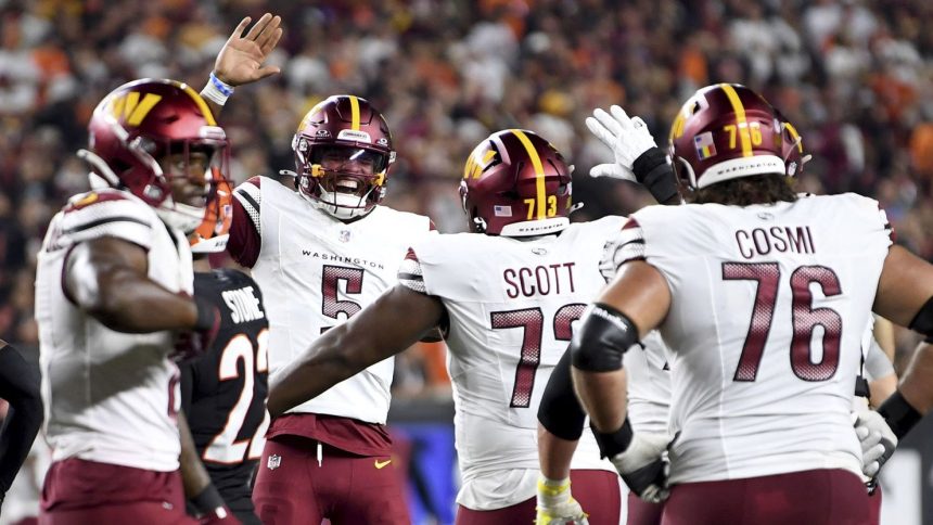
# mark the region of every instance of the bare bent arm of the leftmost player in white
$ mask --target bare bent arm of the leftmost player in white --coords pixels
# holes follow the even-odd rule
[[[65,264],[64,285],[78,307],[117,332],[200,328],[202,308],[149,279],[148,267],[145,249],[103,236],[75,246]]]

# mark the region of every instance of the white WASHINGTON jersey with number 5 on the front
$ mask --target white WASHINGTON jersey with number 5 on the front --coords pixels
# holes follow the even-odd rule
[[[261,238],[253,278],[269,317],[270,383],[325,330],[394,286],[408,247],[431,231],[427,217],[384,206],[345,223],[269,178],[234,195]],[[290,412],[384,424],[394,367],[394,358],[380,361]]]

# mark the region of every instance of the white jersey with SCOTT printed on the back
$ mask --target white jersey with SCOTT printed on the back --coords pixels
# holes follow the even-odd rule
[[[538,406],[586,305],[605,285],[599,258],[622,217],[519,240],[460,233],[417,244],[402,284],[444,302],[462,487],[457,501],[501,509],[535,496]],[[573,469],[614,471],[584,432]]]

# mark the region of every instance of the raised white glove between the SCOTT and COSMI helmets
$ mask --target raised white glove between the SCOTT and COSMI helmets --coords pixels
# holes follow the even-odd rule
[[[637,182],[631,167],[635,159],[651,148],[656,148],[654,137],[640,117],[629,118],[617,105],[610,107],[612,115],[597,107],[587,117],[586,127],[615,156],[613,164],[600,164],[589,170],[590,177],[613,177]]]

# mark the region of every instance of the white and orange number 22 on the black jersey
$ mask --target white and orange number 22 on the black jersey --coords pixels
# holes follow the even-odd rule
[[[263,454],[266,428],[269,427],[269,412],[263,410],[263,422],[256,431],[246,439],[237,440],[246,421],[246,414],[253,405],[253,385],[256,382],[256,373],[269,370],[268,342],[269,332],[264,330],[256,336],[256,347],[250,337],[240,334],[223,348],[220,355],[220,381],[233,380],[240,376],[238,363],[243,361],[243,390],[240,398],[227,415],[227,424],[219,434],[214,436],[207,448],[204,449],[205,461],[215,463],[240,463],[245,459],[258,459]],[[256,358],[254,359],[254,351]],[[254,362],[255,361],[255,362]],[[244,458],[244,454],[246,457]]]

